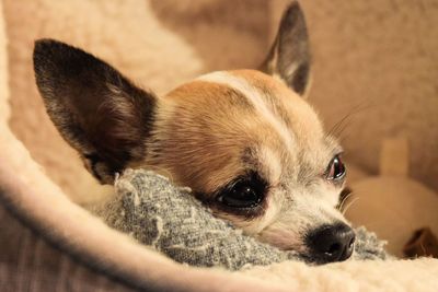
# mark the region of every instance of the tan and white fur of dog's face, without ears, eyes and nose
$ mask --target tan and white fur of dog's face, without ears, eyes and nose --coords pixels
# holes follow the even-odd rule
[[[148,155],[136,166],[170,175],[201,200],[215,200],[211,194],[247,170],[268,180],[256,217],[210,206],[245,233],[306,252],[309,229],[345,221],[334,208],[342,186],[323,178],[341,148],[313,108],[283,82],[254,70],[215,72],[160,98],[157,112]]]

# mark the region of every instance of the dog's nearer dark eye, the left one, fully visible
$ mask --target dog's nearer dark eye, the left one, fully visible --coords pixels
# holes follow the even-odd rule
[[[265,183],[257,175],[251,174],[226,187],[217,200],[231,208],[254,208],[263,201],[265,192]]]

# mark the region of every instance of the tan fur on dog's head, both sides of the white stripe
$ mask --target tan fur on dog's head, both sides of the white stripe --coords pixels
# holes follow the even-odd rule
[[[260,91],[274,114],[281,113],[290,137],[300,137],[295,139],[296,151],[304,147],[318,151],[325,137],[318,116],[302,98],[258,71],[230,74]],[[209,192],[235,177],[244,170],[240,156],[251,145],[266,147],[277,157],[293,161],[293,153],[284,152],[285,145],[273,126],[255,113],[244,95],[226,84],[187,83],[163,97],[159,108],[154,139],[149,145],[152,151],[146,161],[195,190]]]

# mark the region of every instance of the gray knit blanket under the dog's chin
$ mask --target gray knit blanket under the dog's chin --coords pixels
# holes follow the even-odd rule
[[[117,197],[111,203],[107,223],[178,262],[240,270],[309,260],[244,235],[231,223],[215,218],[189,189],[175,187],[153,172],[128,170],[116,179],[115,189]],[[387,258],[384,243],[376,234],[359,227],[356,235],[354,259]]]

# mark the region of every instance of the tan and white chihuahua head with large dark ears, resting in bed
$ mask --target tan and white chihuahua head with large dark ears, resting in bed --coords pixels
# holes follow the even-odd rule
[[[285,11],[260,70],[219,71],[155,96],[99,58],[35,43],[36,83],[61,136],[102,184],[153,167],[245,234],[319,264],[346,260],[342,148],[306,102],[307,25]]]

